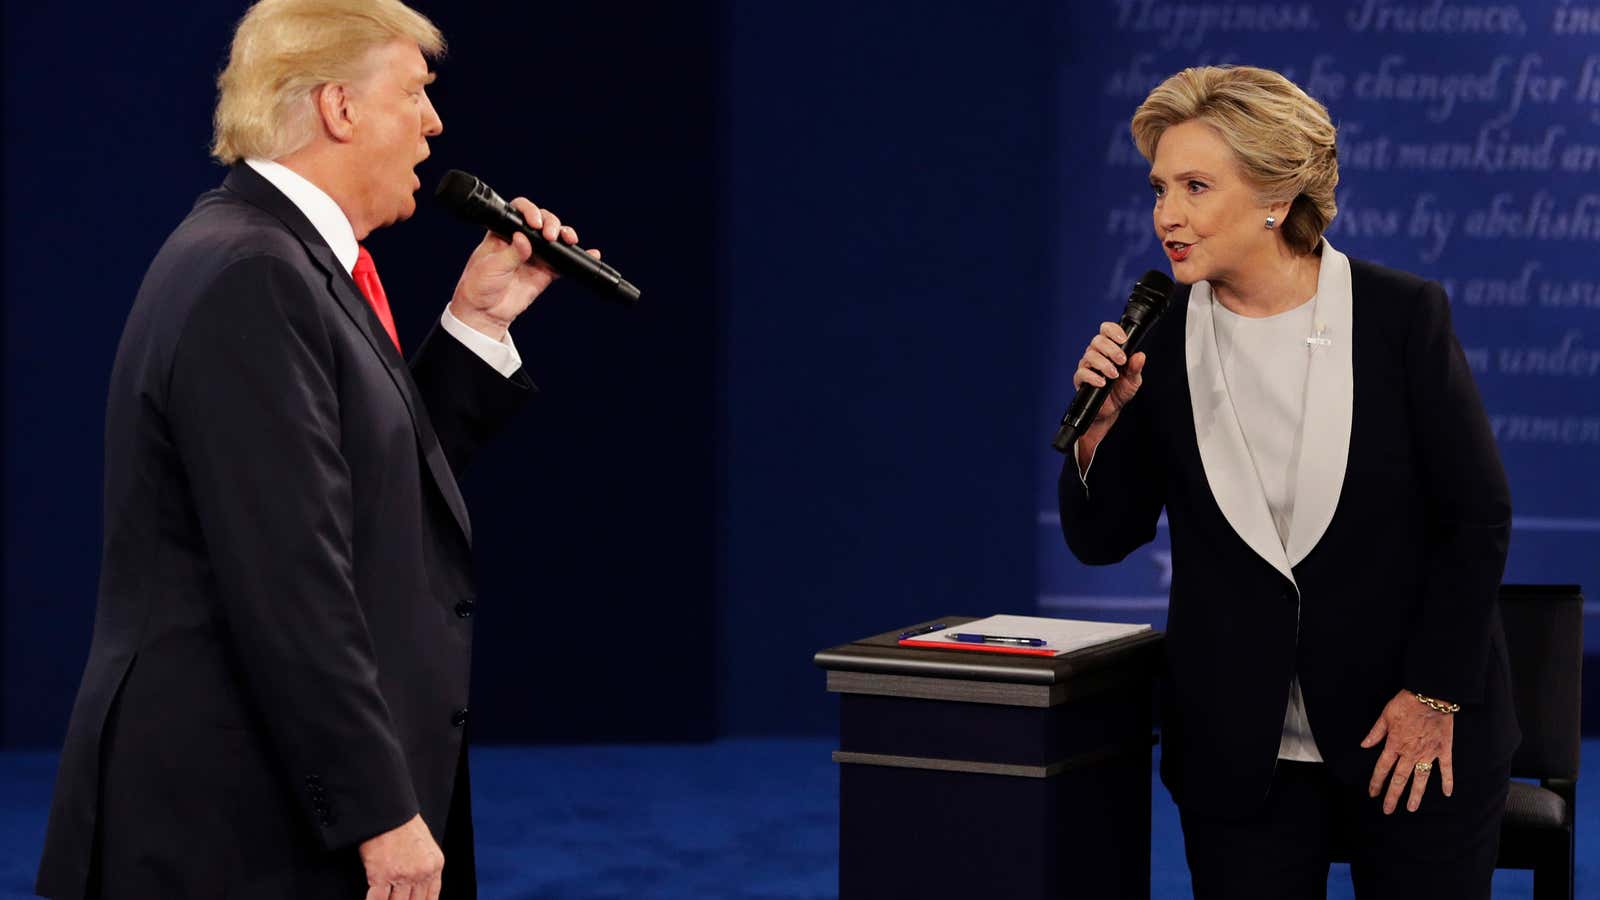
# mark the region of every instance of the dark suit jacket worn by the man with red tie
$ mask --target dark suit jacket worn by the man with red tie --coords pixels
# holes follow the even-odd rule
[[[437,330],[408,368],[248,167],[198,199],[112,370],[40,894],[83,897],[98,868],[106,897],[360,897],[355,846],[418,812],[472,892],[456,474],[530,391]]]

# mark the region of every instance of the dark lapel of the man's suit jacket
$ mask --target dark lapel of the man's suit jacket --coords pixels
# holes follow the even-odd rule
[[[406,367],[405,359],[402,359],[400,351],[395,349],[394,341],[389,340],[389,333],[384,331],[382,323],[378,322],[371,304],[366,303],[360,288],[350,280],[350,274],[344,271],[344,266],[334,258],[333,250],[317,234],[317,229],[299,208],[250,167],[243,163],[235,165],[229,171],[224,186],[282,221],[306,247],[312,261],[328,275],[328,290],[339,303],[339,307],[344,309],[344,314],[350,317],[355,328],[366,338],[366,344],[382,360],[384,370],[400,392],[406,412],[411,413],[411,429],[416,432],[418,447],[422,450],[427,469],[434,476],[434,484],[438,485],[438,492],[445,498],[445,506],[450,508],[451,517],[470,544],[472,520],[467,516],[467,503],[461,496],[461,487],[456,484],[456,476],[450,469],[450,461],[438,444],[438,436],[434,432],[434,423],[427,418],[427,407],[416,396],[411,370]]]

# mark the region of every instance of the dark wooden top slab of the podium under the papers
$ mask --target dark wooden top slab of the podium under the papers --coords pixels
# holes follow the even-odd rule
[[[907,625],[872,637],[821,650],[811,661],[830,673],[874,673],[962,681],[998,681],[1013,684],[1064,684],[1077,676],[1110,666],[1154,660],[1163,634],[1141,631],[1106,644],[1083,647],[1061,657],[1019,657],[979,650],[933,650],[901,647],[899,634],[942,621],[949,626],[976,621],[976,615],[946,615]]]

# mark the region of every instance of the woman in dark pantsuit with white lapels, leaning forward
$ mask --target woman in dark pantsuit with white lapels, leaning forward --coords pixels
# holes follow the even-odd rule
[[[1326,109],[1186,69],[1133,117],[1181,283],[1061,476],[1067,544],[1123,559],[1166,511],[1162,778],[1195,897],[1488,897],[1510,754],[1496,593],[1510,496],[1443,290],[1350,259]]]

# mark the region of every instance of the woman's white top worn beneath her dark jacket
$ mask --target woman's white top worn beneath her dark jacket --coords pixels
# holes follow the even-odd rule
[[[1267,498],[1278,540],[1288,544],[1294,519],[1294,474],[1301,458],[1301,423],[1306,418],[1306,335],[1312,333],[1317,299],[1264,319],[1229,312],[1211,301],[1218,357],[1234,415]],[[1290,682],[1283,713],[1278,759],[1322,762],[1310,733],[1299,679]]]

